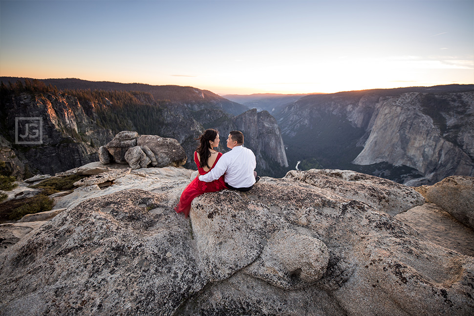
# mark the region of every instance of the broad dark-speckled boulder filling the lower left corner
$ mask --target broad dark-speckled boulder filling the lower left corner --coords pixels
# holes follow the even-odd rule
[[[187,221],[163,195],[90,199],[0,258],[2,315],[172,315],[207,283]],[[28,273],[29,272],[29,273]]]

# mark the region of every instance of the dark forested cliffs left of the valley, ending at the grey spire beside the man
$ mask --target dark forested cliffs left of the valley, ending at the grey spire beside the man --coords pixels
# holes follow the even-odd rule
[[[222,137],[233,129],[241,130],[246,135],[245,145],[256,152],[259,173],[284,175],[288,164],[280,129],[267,112],[233,116],[225,109],[236,111],[236,104],[191,87],[120,86],[153,88],[153,92],[161,93],[159,97],[175,100],[155,101],[150,92],[143,91],[58,90],[39,81],[2,84],[1,157],[8,172],[23,178],[25,174],[54,174],[98,161],[98,148],[123,130],[176,139],[188,157],[185,167],[195,169],[195,138],[212,127],[218,128]],[[42,144],[16,144],[19,117],[42,119]],[[245,123],[249,120],[252,124]]]

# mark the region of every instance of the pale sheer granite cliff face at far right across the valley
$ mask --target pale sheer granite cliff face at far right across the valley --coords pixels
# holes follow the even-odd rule
[[[473,100],[473,92],[408,93],[381,102],[354,163],[409,166],[424,175],[418,181],[429,183],[473,175]]]

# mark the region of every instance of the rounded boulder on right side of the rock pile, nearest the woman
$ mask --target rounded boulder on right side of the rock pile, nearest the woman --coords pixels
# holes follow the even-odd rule
[[[186,153],[174,138],[141,135],[138,137],[137,146],[148,147],[153,152],[156,159],[156,167],[179,167],[186,163]]]

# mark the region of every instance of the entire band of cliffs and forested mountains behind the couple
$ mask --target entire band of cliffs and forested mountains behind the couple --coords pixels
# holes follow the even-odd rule
[[[18,80],[25,83],[24,78],[0,80],[6,85]],[[94,160],[91,144],[104,145],[124,129],[177,139],[188,155],[186,167],[194,168],[189,159],[196,146],[194,138],[205,128],[217,128],[221,139],[232,129],[244,132],[246,146],[256,152],[263,175],[281,177],[290,169],[351,169],[409,185],[433,184],[450,175],[474,175],[473,84],[220,97],[175,85],[79,79],[41,82],[51,85],[51,91],[59,89],[60,94],[17,91],[13,97],[2,96],[0,130],[4,138],[0,141],[11,143],[15,116],[33,115],[40,102],[45,110],[35,115],[51,122],[48,137],[56,139],[41,155],[53,153],[57,157],[54,168]],[[89,95],[90,91],[97,92]],[[48,102],[63,117],[60,123],[45,114]],[[67,114],[71,111],[84,118],[71,121]],[[71,142],[83,145],[72,148]],[[33,149],[28,153],[23,148],[16,156],[29,157],[24,163],[35,163],[41,148]],[[219,150],[225,152],[225,144]],[[65,154],[77,161],[61,162]],[[50,161],[44,158],[43,169],[37,169],[46,170]]]

